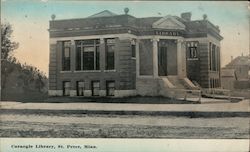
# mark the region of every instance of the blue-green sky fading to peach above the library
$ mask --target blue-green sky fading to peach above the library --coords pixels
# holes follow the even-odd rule
[[[73,1],[73,0],[1,0],[1,22],[13,27],[13,40],[19,43],[14,56],[21,63],[36,66],[48,75],[49,20],[85,18],[103,10],[135,17],[180,16],[192,12],[192,20],[208,20],[218,25],[222,66],[240,55],[249,54],[250,6],[247,1]]]

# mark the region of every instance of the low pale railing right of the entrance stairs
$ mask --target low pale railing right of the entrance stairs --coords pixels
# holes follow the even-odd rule
[[[220,88],[202,88],[202,95],[209,96],[212,98],[227,98],[231,101],[231,91]]]

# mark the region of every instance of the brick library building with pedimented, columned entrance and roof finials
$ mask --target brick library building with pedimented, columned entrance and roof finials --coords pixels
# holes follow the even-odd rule
[[[50,96],[158,96],[220,87],[219,27],[206,15],[137,18],[124,9],[49,23]]]

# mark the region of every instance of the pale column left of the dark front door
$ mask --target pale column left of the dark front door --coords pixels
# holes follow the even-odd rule
[[[153,77],[157,78],[158,75],[158,41],[159,39],[153,39]]]

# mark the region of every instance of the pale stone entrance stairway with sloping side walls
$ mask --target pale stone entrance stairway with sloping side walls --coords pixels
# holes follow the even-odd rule
[[[136,80],[141,96],[164,96],[173,100],[201,101],[201,91],[188,78],[178,76],[141,77]]]

